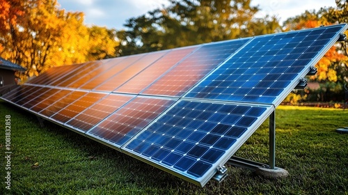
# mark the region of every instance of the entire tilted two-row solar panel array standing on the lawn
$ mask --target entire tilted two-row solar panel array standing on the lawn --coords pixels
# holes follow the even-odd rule
[[[51,68],[1,99],[204,186],[346,29]]]

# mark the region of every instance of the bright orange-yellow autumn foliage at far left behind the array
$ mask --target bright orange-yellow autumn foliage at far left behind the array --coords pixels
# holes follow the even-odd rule
[[[2,0],[0,55],[26,68],[22,78],[48,68],[114,56],[116,32],[84,24],[84,13],[56,0]]]

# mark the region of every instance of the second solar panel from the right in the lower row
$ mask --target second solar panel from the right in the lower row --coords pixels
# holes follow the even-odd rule
[[[174,102],[160,98],[134,98],[87,134],[120,147]]]

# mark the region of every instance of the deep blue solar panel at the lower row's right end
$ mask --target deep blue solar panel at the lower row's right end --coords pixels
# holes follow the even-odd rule
[[[122,149],[203,182],[203,176],[215,173],[219,159],[230,158],[230,150],[237,150],[272,110],[183,100]]]

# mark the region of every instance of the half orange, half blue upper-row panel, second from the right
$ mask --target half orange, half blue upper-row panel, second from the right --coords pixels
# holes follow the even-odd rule
[[[180,97],[248,40],[244,38],[203,45],[141,94]]]

